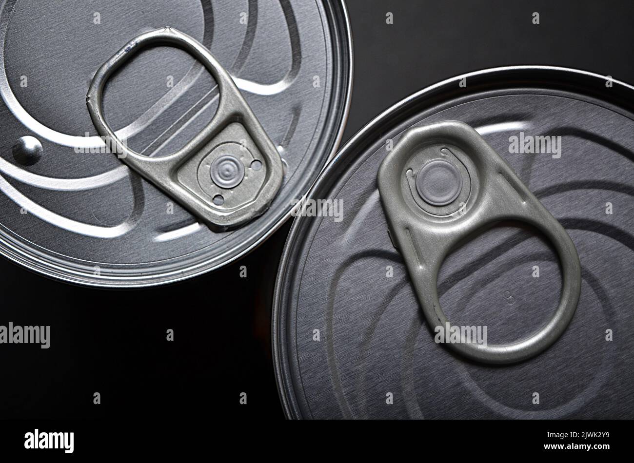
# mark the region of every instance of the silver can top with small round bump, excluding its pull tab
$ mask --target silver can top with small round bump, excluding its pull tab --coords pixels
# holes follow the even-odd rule
[[[290,217],[342,136],[352,73],[342,1],[142,3],[1,5],[0,252],[46,276],[138,287],[217,269]],[[37,25],[36,8],[44,18]],[[194,208],[127,167],[86,108],[100,65],[134,37],[166,26],[211,52],[275,147],[280,172],[283,166],[275,198],[232,229],[207,226]],[[117,137],[161,158],[213,119],[216,83],[181,49],[148,48],[113,73],[103,110]],[[231,159],[218,162],[204,181],[229,192],[234,174],[246,179],[261,166],[246,164],[245,173]]]

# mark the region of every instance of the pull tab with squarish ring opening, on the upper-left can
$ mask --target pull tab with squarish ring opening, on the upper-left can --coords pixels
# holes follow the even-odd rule
[[[175,153],[140,155],[115,135],[103,116],[103,88],[110,75],[150,44],[172,45],[199,60],[216,79],[219,102],[205,128]],[[243,225],[266,211],[278,193],[283,166],[275,145],[226,70],[202,44],[171,27],[141,34],[106,61],[86,96],[94,127],[114,144],[119,158],[162,189],[214,231]]]

